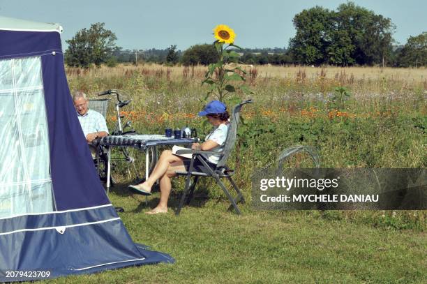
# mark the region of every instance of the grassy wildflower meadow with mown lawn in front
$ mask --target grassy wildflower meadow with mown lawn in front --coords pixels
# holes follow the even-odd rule
[[[101,283],[421,283],[426,279],[426,211],[255,211],[250,177],[274,165],[295,144],[315,147],[321,167],[418,167],[427,165],[427,69],[375,67],[242,66],[253,98],[230,167],[249,202],[243,216],[227,212],[219,188],[204,181],[181,216],[147,216],[142,197],[127,192],[125,166],[110,194],[137,242],[165,251],[177,264],[67,278]],[[207,87],[207,68],[158,65],[90,70],[67,68],[70,89],[92,97],[105,89],[126,91],[133,102],[123,114],[139,133],[167,127],[209,126],[195,116]],[[113,100],[114,101],[114,100]],[[110,112],[107,122],[114,125]],[[143,170],[143,156],[136,154]],[[313,167],[301,154],[285,167]],[[172,209],[183,180],[173,184]],[[149,206],[158,201],[158,193]],[[58,283],[61,279],[57,280]],[[63,280],[62,280],[63,281]]]

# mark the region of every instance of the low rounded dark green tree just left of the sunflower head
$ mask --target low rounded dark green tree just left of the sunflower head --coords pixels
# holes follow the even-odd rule
[[[218,52],[216,52],[215,46],[204,44],[204,45],[193,45],[188,50],[183,52],[181,62],[183,65],[209,65],[218,61]]]

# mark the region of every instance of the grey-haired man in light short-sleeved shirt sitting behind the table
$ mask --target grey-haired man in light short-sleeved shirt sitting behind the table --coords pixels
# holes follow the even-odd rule
[[[76,91],[73,95],[73,103],[77,111],[80,126],[82,126],[84,137],[86,137],[89,145],[96,142],[97,138],[108,135],[108,128],[103,115],[95,110],[89,110],[89,100],[86,94],[82,91]],[[94,153],[92,147],[91,152],[92,154]]]

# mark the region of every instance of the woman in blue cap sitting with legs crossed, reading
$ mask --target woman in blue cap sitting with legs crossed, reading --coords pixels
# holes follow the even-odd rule
[[[221,152],[225,146],[225,139],[227,138],[228,119],[230,115],[227,112],[227,107],[219,100],[212,100],[209,102],[200,116],[206,116],[210,124],[213,125],[213,130],[206,137],[206,141],[202,144],[193,143],[191,149],[202,151]],[[220,158],[219,155],[203,155],[207,160],[207,164],[211,167],[216,167],[216,163]],[[172,151],[165,150],[162,152],[156,166],[153,169],[147,181],[136,186],[130,185],[130,188],[137,190],[143,195],[151,195],[151,187],[159,179],[160,180],[160,202],[157,207],[148,211],[147,214],[167,213],[167,200],[169,199],[172,184],[170,179],[175,177],[176,172],[188,171],[190,167],[190,159],[172,154]],[[194,160],[193,168],[202,170],[204,165],[198,159]]]

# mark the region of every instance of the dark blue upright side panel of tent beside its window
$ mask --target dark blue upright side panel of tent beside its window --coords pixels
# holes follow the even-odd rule
[[[108,204],[110,201],[93,167],[89,147],[77,119],[62,54],[44,55],[42,66],[52,183],[54,188],[68,188],[54,190],[57,209]]]

